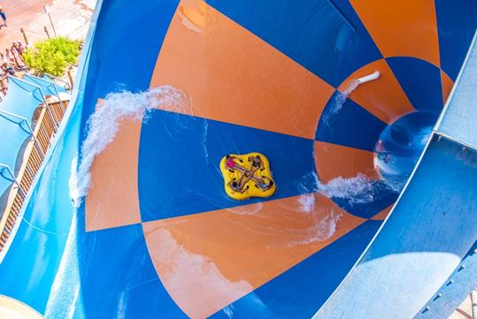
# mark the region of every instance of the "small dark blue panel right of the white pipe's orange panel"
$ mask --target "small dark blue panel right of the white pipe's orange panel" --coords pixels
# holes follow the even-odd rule
[[[441,70],[415,57],[388,57],[389,67],[416,110],[442,110]]]

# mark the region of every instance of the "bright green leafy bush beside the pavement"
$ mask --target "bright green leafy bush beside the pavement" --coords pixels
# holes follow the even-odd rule
[[[37,42],[23,53],[25,64],[36,72],[47,72],[55,76],[65,73],[66,67],[77,62],[81,42],[58,36]]]

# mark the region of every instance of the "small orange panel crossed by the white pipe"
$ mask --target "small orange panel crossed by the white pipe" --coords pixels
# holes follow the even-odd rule
[[[375,71],[381,72],[380,78],[358,86],[351,93],[350,98],[388,124],[404,114],[414,111],[403,88],[399,85],[394,73],[384,59],[376,60],[352,73],[338,89],[343,92],[347,87],[350,87],[352,80]]]

